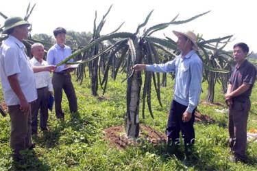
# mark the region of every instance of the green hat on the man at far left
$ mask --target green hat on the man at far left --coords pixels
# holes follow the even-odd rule
[[[3,26],[5,28],[2,33],[6,34],[8,30],[19,25],[27,25],[27,27],[29,27],[30,24],[19,16],[9,17],[5,20],[5,25]]]

